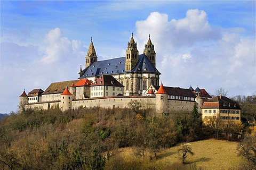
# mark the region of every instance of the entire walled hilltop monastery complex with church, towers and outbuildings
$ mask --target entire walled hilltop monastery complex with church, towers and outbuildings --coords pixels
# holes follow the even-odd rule
[[[133,39],[127,43],[124,57],[98,61],[92,39],[85,56],[85,68],[80,67],[77,80],[53,82],[43,91],[34,89],[19,97],[22,108],[62,111],[78,107],[126,108],[138,101],[142,109],[157,114],[191,112],[197,104],[202,118],[218,116],[223,120],[239,121],[241,108],[235,101],[217,96],[212,98],[205,89],[195,90],[166,87],[159,83],[161,73],[156,69],[156,52],[150,36],[143,54],[139,54]],[[159,86],[160,85],[160,86]]]

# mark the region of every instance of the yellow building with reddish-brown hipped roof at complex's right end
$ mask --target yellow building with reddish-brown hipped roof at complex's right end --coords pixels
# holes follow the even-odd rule
[[[236,101],[225,96],[215,96],[204,101],[202,106],[202,119],[210,116],[220,118],[223,122],[241,121],[241,107]]]

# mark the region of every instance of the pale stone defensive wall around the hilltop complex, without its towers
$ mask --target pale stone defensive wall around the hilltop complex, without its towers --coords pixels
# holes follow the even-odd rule
[[[129,107],[129,103],[137,100],[141,104],[141,109],[156,109],[159,102],[155,96],[110,96],[110,97],[97,97],[87,99],[71,100],[71,108],[76,109],[78,107],[103,107],[103,108],[126,108]],[[162,112],[189,112],[193,109],[195,101],[189,100],[173,100],[167,99],[164,101]],[[25,108],[42,108],[48,109],[52,107],[60,107],[61,101],[46,101],[41,103],[26,104]]]

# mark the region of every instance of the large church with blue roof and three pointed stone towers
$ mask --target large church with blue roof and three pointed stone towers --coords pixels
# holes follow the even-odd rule
[[[124,96],[141,96],[150,87],[159,86],[159,75],[156,69],[156,52],[150,40],[150,35],[143,54],[139,54],[137,43],[133,39],[127,44],[125,57],[98,61],[91,43],[85,57],[85,69],[82,66],[78,79],[96,81],[101,75],[112,75],[124,86]]]

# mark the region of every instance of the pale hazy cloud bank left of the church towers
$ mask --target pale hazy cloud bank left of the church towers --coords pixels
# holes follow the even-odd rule
[[[0,98],[1,112],[5,107],[7,112],[15,111],[23,88],[27,93],[35,88],[45,90],[52,82],[78,78],[87,52],[83,43],[63,37],[59,28],[50,30],[44,42],[46,47],[1,43],[0,83],[10,89],[2,95],[13,100],[10,104]]]

